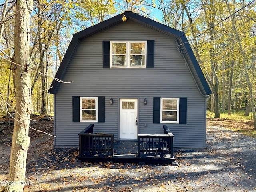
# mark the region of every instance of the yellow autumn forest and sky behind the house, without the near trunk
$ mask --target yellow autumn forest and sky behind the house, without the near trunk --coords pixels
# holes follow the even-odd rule
[[[255,0],[34,0],[30,15],[32,113],[51,114],[47,93],[72,34],[124,10],[186,33],[213,92],[208,109],[220,117],[244,110],[255,122]],[[0,112],[15,106],[14,14],[16,1],[0,0]]]

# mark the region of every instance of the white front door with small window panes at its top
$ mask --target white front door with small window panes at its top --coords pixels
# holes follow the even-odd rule
[[[120,99],[120,139],[137,139],[138,100]]]

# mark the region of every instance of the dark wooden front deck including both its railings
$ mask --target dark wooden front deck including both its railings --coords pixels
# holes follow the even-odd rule
[[[112,134],[93,133],[91,124],[79,134],[79,156],[84,162],[130,162],[175,164],[173,135],[138,134],[137,141],[114,141]]]

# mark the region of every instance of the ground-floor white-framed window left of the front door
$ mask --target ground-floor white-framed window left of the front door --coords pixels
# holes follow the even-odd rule
[[[97,120],[97,98],[80,98],[80,120],[96,121]]]

